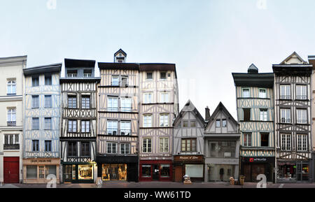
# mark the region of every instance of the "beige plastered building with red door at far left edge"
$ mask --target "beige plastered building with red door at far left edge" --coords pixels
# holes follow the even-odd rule
[[[22,182],[23,68],[27,56],[0,58],[0,183]]]

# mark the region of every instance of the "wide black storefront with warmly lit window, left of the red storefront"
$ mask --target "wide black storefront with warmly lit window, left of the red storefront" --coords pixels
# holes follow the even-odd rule
[[[97,157],[97,177],[103,181],[138,182],[139,157]]]

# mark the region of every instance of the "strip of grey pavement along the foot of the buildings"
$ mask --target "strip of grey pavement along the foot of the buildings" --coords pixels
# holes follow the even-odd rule
[[[46,188],[47,185],[5,184],[0,188]],[[57,185],[57,188],[98,188],[95,184],[71,184]],[[104,182],[102,188],[257,188],[255,182],[245,182],[241,185],[230,185],[228,182],[193,182],[191,185],[183,185],[181,182]],[[267,188],[315,188],[315,183],[267,183]]]

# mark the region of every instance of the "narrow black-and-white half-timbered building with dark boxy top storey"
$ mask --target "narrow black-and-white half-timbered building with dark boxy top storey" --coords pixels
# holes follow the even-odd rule
[[[97,85],[94,60],[64,59],[60,78],[62,182],[94,182],[97,138]]]

